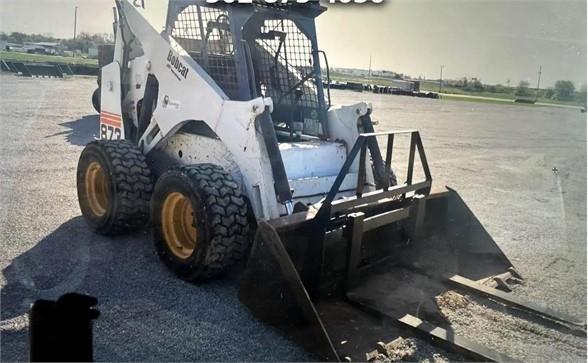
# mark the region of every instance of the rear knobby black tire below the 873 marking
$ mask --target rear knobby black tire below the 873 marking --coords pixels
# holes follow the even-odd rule
[[[101,168],[104,173],[103,214],[96,213],[92,203],[93,195],[99,193],[89,190],[89,168]],[[78,163],[77,188],[82,215],[96,233],[131,232],[145,227],[149,221],[152,174],[141,150],[129,141],[89,143]]]

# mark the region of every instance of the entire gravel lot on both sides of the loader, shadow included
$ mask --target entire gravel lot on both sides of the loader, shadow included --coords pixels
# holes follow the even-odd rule
[[[306,360],[247,313],[234,278],[190,285],[159,263],[147,232],[111,240],[88,231],[75,168],[97,134],[95,85],[0,75],[0,359],[27,359],[32,301],[75,290],[100,301],[97,360]],[[436,184],[460,192],[526,278],[515,294],[585,313],[585,114],[346,91],[333,97],[373,102],[381,130],[420,129]],[[516,323],[507,334],[489,329],[502,317],[486,315],[470,327],[456,321],[456,330],[495,338],[517,359],[585,361],[584,338]]]

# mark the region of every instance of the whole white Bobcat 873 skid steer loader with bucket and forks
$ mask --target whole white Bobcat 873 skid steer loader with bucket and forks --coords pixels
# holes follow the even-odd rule
[[[95,232],[150,221],[162,261],[194,282],[246,259],[240,300],[322,359],[365,360],[404,332],[509,360],[451,333],[434,304],[449,288],[584,325],[501,290],[520,276],[455,191],[431,192],[418,131],[376,133],[371,105],[331,105],[318,2],[170,0],[161,33],[142,2],[115,3],[100,140],[77,171]]]

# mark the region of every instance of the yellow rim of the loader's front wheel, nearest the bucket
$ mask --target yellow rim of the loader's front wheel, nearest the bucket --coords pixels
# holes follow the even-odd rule
[[[182,193],[171,193],[161,209],[163,238],[170,251],[181,259],[194,253],[198,238],[196,216],[190,200]]]

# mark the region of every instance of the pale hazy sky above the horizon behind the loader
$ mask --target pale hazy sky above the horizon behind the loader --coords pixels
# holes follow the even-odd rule
[[[154,21],[166,0],[145,0]],[[0,31],[73,34],[109,32],[111,0],[0,0]],[[160,28],[160,27],[159,27]],[[338,5],[319,18],[319,45],[331,66],[388,69],[412,76],[478,77],[487,83],[586,83],[584,0],[385,0]]]

